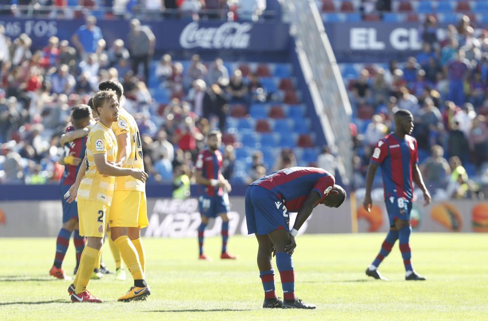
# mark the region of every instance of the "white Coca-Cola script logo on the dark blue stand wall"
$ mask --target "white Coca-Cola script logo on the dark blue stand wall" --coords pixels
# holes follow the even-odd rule
[[[252,24],[225,22],[219,27],[199,27],[198,22],[188,24],[180,35],[183,48],[244,49],[249,47]]]

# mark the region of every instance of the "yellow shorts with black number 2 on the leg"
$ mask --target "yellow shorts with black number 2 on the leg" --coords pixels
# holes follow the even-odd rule
[[[103,203],[78,199],[80,235],[104,237],[108,210],[108,205]]]

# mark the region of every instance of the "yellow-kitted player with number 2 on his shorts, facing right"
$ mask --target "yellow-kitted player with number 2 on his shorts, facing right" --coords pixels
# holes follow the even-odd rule
[[[112,91],[101,91],[93,97],[93,106],[100,120],[88,134],[86,142],[86,173],[69,189],[67,201],[78,198],[80,234],[86,236],[87,244],[81,254],[76,279],[68,291],[72,302],[102,302],[86,290],[90,275],[100,255],[105,233],[105,219],[112,203],[115,186],[114,176],[132,176],[142,182],[147,174],[138,169],[115,166],[118,153],[117,138],[111,130],[112,123],[119,117],[119,102]],[[122,252],[122,251],[121,251]],[[135,257],[137,261],[137,257]],[[133,260],[132,260],[133,261]],[[127,262],[127,261],[126,261]],[[127,264],[130,264],[127,262]],[[142,273],[141,273],[142,274]],[[143,276],[135,280],[139,294],[150,294]]]

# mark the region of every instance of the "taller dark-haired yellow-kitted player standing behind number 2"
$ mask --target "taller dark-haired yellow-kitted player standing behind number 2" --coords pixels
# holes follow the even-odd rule
[[[110,90],[117,94],[119,102],[123,95],[122,84],[118,81],[104,81],[99,84],[100,90]],[[143,171],[141,136],[134,117],[122,107],[119,111],[119,120],[112,124],[112,130],[117,137],[119,152],[117,163],[123,168],[132,168]],[[141,228],[147,227],[145,183],[130,176],[121,176],[115,179],[113,202],[110,207],[108,225],[111,229],[112,241],[119,248],[127,269],[134,278],[134,286],[119,298],[119,301],[137,300],[143,292],[136,280],[145,273],[145,253],[141,242]],[[129,263],[126,257],[136,256],[137,261]]]

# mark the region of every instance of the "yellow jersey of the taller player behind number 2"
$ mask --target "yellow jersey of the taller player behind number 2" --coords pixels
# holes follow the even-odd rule
[[[130,139],[130,155],[125,158],[123,168],[144,170],[144,161],[142,160],[142,145],[141,135],[139,134],[139,128],[137,127],[136,120],[125,109],[119,110],[119,120],[112,124],[112,130],[115,136],[119,136],[123,133],[129,134]],[[121,148],[117,154],[119,159]],[[137,190],[144,192],[146,190],[145,183],[135,179],[132,176],[119,176],[115,178],[116,190]]]

